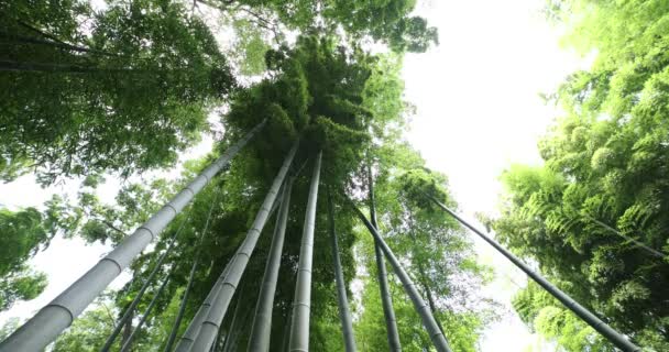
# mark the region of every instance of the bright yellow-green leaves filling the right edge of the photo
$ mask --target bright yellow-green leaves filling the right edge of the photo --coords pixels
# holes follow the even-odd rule
[[[669,8],[567,1],[558,11],[571,25],[569,42],[597,50],[597,58],[555,96],[568,116],[540,142],[545,166],[514,166],[503,176],[507,197],[495,229],[614,328],[665,350],[669,264],[628,239],[669,249]],[[537,330],[571,351],[610,349],[593,333],[570,334],[578,321],[537,295],[529,287],[517,298]]]

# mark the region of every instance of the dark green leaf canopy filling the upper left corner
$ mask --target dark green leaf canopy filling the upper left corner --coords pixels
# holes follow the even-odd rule
[[[3,179],[35,170],[51,184],[173,164],[207,128],[209,105],[234,84],[209,29],[184,11],[139,0],[98,12],[68,2],[6,3]],[[63,48],[54,35],[89,50]]]

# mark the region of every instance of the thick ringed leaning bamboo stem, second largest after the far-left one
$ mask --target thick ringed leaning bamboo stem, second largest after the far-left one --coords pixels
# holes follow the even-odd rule
[[[209,348],[211,348],[211,343],[213,343],[213,339],[216,338],[216,332],[218,331],[221,321],[226,316],[226,311],[228,310],[230,300],[234,295],[237,285],[239,284],[244,270],[246,268],[246,264],[249,263],[249,258],[255,249],[257,239],[265,227],[265,222],[267,222],[270,210],[274,205],[278,190],[286,178],[290,164],[293,163],[295,152],[297,151],[297,145],[298,142],[295,142],[288,152],[284,164],[278,170],[278,174],[274,178],[272,187],[265,196],[265,199],[257,212],[257,216],[255,217],[255,220],[253,221],[251,229],[249,230],[249,233],[246,234],[246,238],[240,245],[238,253],[230,263],[230,271],[226,275],[226,278],[222,280],[222,283],[220,283],[220,285],[216,285],[212,288],[212,290],[218,290],[218,293],[216,294],[216,298],[213,299],[211,308],[209,309],[209,314],[202,321],[197,338],[193,343],[193,351],[205,352],[209,351]]]

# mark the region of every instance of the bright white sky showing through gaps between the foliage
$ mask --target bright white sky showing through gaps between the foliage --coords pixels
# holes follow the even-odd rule
[[[439,28],[440,45],[405,58],[406,98],[417,107],[408,139],[429,167],[448,175],[469,219],[475,211],[495,212],[498,176],[511,163],[540,163],[537,141],[559,112],[545,106],[538,92],[551,91],[566,75],[585,67],[584,59],[558,45],[559,33],[538,12],[544,1],[434,0],[417,11]],[[184,158],[201,155],[210,143],[209,139]],[[118,187],[110,180],[102,199],[111,201]],[[0,184],[0,206],[40,206],[54,193],[74,197],[73,189],[42,189],[29,175]],[[481,350],[553,351],[553,345],[531,336],[511,308],[524,275],[486,244],[476,244],[481,261],[497,272],[485,294],[508,310],[486,330]],[[31,261],[50,276],[48,287],[39,298],[0,314],[0,324],[9,317],[29,318],[107,251],[99,244],[56,239]]]

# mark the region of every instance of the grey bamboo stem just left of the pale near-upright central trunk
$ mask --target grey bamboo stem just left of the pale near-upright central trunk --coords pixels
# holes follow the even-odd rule
[[[260,288],[255,316],[251,328],[251,339],[249,340],[249,351],[266,352],[270,351],[270,334],[272,332],[272,308],[274,306],[274,294],[276,292],[276,279],[281,265],[281,254],[284,248],[286,224],[288,223],[288,211],[290,210],[290,190],[293,189],[293,178],[290,177],[284,187],[281,207],[274,237],[270,245],[270,255],[263,274],[263,283]]]

